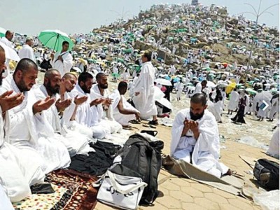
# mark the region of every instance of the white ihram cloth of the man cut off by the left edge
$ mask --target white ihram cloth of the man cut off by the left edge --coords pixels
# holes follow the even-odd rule
[[[29,186],[43,182],[45,178],[41,169],[43,159],[33,149],[19,149],[8,143],[10,133],[8,111],[4,121],[0,116],[0,127],[0,187],[12,202],[19,202],[31,194]],[[5,209],[1,206],[4,204],[3,198],[3,195],[0,195],[0,209]]]

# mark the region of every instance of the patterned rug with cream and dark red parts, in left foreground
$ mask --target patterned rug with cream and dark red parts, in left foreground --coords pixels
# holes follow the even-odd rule
[[[97,204],[97,190],[92,182],[97,179],[71,169],[51,172],[45,182],[51,183],[55,193],[30,195],[13,207],[20,210],[92,210]]]

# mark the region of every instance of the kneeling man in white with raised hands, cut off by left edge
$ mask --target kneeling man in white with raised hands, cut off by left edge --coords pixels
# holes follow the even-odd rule
[[[0,76],[5,66],[5,52],[0,46]],[[2,77],[0,77],[0,85]],[[10,122],[8,110],[23,102],[21,93],[13,94],[7,91],[0,95],[0,209],[8,209],[5,197],[8,195],[12,202],[19,202],[31,194],[29,186],[43,181],[45,175],[41,169],[43,160],[34,151],[21,150],[10,144]],[[39,158],[39,160],[33,160]],[[3,195],[3,193],[5,195]]]

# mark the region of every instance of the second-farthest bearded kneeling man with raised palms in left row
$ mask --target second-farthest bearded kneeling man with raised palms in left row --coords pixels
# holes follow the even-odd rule
[[[111,133],[109,126],[103,126],[99,123],[99,111],[97,105],[102,104],[104,99],[90,99],[90,92],[93,83],[93,76],[90,73],[80,73],[78,77],[78,84],[69,93],[73,97],[87,97],[87,101],[78,106],[76,111],[75,120],[81,125],[90,127],[92,135],[96,139],[104,139],[106,135]]]

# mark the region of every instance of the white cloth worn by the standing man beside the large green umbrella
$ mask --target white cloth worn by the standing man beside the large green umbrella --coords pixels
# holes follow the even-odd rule
[[[57,59],[59,55],[62,56],[63,62]],[[64,76],[65,73],[70,72],[73,66],[73,57],[70,52],[57,52],[50,64],[52,65],[52,69],[57,69],[61,76]]]

